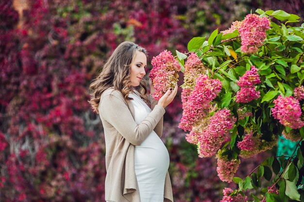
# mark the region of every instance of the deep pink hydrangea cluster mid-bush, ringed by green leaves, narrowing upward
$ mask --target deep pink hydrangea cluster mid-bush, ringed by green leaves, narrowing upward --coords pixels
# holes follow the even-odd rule
[[[236,82],[241,89],[236,93],[236,102],[250,102],[260,97],[260,92],[256,91],[254,84],[261,83],[257,68],[251,66],[251,70],[245,72]]]

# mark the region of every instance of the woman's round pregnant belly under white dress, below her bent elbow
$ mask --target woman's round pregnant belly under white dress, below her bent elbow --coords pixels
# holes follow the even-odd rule
[[[135,173],[137,176],[164,179],[168,168],[168,150],[156,133],[152,132],[141,145],[135,146]]]

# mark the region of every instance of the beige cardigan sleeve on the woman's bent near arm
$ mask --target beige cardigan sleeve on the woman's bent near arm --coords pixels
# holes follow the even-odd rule
[[[110,94],[102,98],[100,113],[103,119],[128,142],[140,145],[163,117],[165,109],[160,105],[155,105],[148,117],[137,125],[124,99],[116,94]]]

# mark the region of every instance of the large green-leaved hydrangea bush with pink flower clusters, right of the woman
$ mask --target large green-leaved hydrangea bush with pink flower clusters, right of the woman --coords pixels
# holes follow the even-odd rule
[[[272,185],[261,199],[252,195],[254,201],[300,201],[303,146],[288,159],[268,158],[245,180],[234,177],[240,157],[270,150],[278,135],[299,141],[293,154],[304,144],[304,24],[287,26],[299,17],[282,10],[256,12],[260,16],[249,14],[208,40],[194,37],[188,53],[176,51],[184,70],[179,127],[190,131],[186,140],[197,145],[199,157],[217,153],[220,180],[239,185],[225,189],[222,201],[246,201],[243,191],[261,187],[261,177],[272,179]]]

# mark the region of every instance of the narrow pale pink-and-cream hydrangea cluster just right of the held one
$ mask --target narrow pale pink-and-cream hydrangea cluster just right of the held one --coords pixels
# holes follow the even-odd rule
[[[184,84],[181,86],[183,88],[182,91],[183,108],[187,104],[188,97],[195,87],[196,79],[201,74],[203,74],[204,71],[205,71],[205,67],[201,62],[200,58],[197,56],[197,54],[191,52],[185,63]]]

